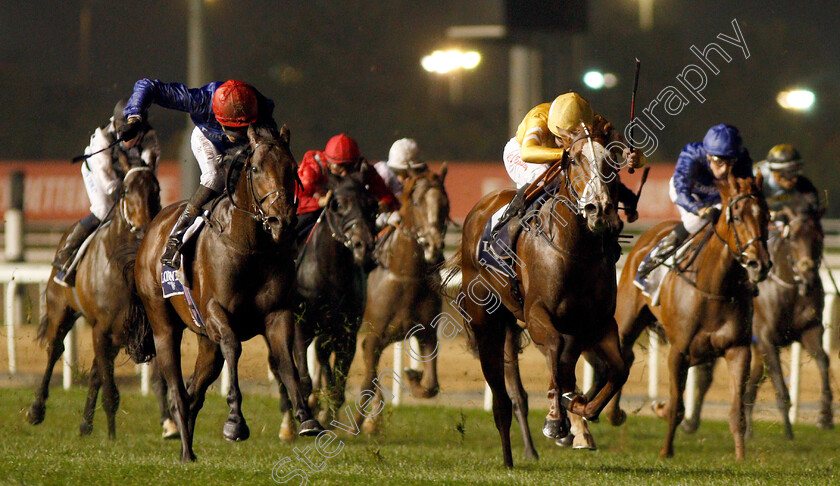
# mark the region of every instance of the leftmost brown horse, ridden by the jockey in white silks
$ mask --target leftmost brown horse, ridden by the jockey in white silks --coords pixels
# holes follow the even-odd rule
[[[139,304],[132,302],[131,263],[146,228],[160,212],[160,186],[150,167],[126,166],[124,170],[122,194],[111,209],[113,216],[97,231],[79,262],[75,287],[62,287],[52,278],[47,282],[47,312],[38,328],[38,337],[47,345],[47,369],[26,414],[31,424],[44,420],[53,368],[64,352],[64,337],[79,315],[83,315],[93,328],[94,349],[90,388],[79,426],[82,435],[93,430],[93,413],[102,387],[108,437],[116,437],[115,416],[120,396],[114,383],[114,358],[119,350],[127,346],[128,353],[137,362],[147,361],[142,350],[143,329],[128,324],[129,313]],[[64,243],[63,238],[61,243]],[[55,272],[53,270],[50,277]]]

